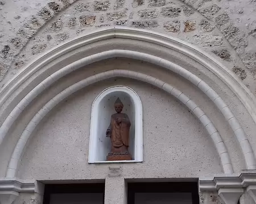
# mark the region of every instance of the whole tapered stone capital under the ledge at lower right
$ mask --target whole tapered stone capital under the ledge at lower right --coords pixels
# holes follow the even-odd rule
[[[222,198],[225,204],[237,204],[242,194],[242,188],[221,188],[218,190],[218,196]]]

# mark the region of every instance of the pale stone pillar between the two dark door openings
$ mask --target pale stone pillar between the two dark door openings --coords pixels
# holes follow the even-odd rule
[[[106,178],[105,204],[127,204],[126,183],[123,177]]]

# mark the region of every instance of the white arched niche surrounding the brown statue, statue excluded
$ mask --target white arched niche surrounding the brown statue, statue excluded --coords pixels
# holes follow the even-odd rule
[[[123,113],[131,121],[129,152],[133,160],[106,161],[110,151],[110,138],[106,137],[106,129],[110,124],[110,117],[115,113],[114,103],[119,97],[123,103]],[[125,86],[109,87],[102,91],[92,105],[90,122],[89,163],[110,162],[142,162],[143,161],[143,123],[142,103],[134,90]]]

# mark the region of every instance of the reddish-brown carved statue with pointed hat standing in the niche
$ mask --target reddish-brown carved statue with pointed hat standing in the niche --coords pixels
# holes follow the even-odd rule
[[[109,128],[106,130],[106,137],[111,139],[111,150],[107,160],[131,160],[128,151],[131,122],[127,114],[121,113],[123,104],[119,98],[115,101],[114,108],[117,113],[111,116]]]

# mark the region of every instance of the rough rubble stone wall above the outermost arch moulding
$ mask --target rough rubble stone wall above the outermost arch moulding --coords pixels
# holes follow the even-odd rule
[[[54,46],[118,25],[200,46],[255,94],[255,8],[255,0],[1,0],[0,86]]]

